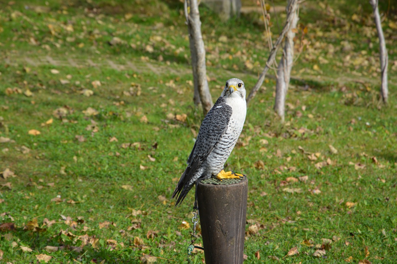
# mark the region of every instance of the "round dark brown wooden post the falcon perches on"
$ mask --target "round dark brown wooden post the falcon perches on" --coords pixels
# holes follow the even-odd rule
[[[206,179],[197,202],[206,264],[242,264],[248,179]]]

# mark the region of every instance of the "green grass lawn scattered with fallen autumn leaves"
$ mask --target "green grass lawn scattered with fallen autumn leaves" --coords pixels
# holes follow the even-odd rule
[[[191,229],[182,225],[192,217],[193,191],[178,208],[169,200],[203,118],[192,100],[181,4],[136,1],[138,12],[118,1],[50,2],[0,8],[0,136],[15,141],[0,143],[0,171],[17,175],[0,177],[0,224],[15,226],[0,231],[0,263],[31,263],[38,254],[52,256],[49,263],[141,263],[144,255],[157,263],[202,263],[202,252],[187,257]],[[272,110],[270,75],[249,104],[241,140],[225,164],[249,178],[246,262],[341,263],[351,256],[352,263],[393,263],[397,18],[390,13],[384,21],[384,106],[370,10],[337,1],[325,2],[324,11],[315,3],[306,1],[300,12],[297,47],[302,37],[310,43],[293,67],[285,124]],[[230,77],[243,79],[250,91],[269,53],[260,16],[222,23],[208,8],[200,12],[213,98]],[[279,15],[281,24],[284,18]],[[121,42],[110,45],[114,37]],[[343,48],[346,40],[351,46]],[[113,69],[108,60],[124,68]],[[96,80],[101,85],[94,87]],[[33,96],[23,94],[27,89]],[[83,89],[94,94],[83,96]],[[54,114],[61,107],[67,110],[62,118]],[[98,114],[86,116],[88,107]],[[186,121],[175,114],[187,114]],[[40,135],[29,135],[30,129]],[[110,142],[113,137],[118,141]],[[308,180],[286,181],[304,175]],[[45,230],[29,230],[34,219]],[[251,225],[259,231],[250,233]],[[46,246],[60,248],[47,252]],[[293,247],[299,254],[287,256]],[[318,248],[326,255],[313,256]]]

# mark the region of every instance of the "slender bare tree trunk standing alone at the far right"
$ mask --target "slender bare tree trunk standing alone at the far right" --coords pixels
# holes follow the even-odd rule
[[[372,6],[372,9],[374,10],[376,30],[378,31],[379,37],[380,69],[382,74],[382,85],[380,87],[380,94],[382,96],[383,102],[387,104],[387,97],[389,93],[389,90],[387,88],[387,64],[389,59],[387,56],[385,36],[383,35],[382,23],[379,15],[378,0],[370,0],[370,4]]]

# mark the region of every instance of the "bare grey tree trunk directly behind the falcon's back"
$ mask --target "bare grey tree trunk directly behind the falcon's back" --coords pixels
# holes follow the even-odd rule
[[[190,12],[188,13],[188,7]],[[195,85],[195,94],[193,100],[195,104],[200,98],[204,115],[213,106],[210,89],[208,88],[206,65],[205,65],[205,48],[201,35],[200,13],[198,12],[197,0],[185,0],[185,15],[187,28],[189,30],[190,52],[192,56],[193,80]]]

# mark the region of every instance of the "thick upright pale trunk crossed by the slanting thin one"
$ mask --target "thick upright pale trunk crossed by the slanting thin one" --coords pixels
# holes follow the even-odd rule
[[[292,0],[289,0],[287,5],[287,12],[291,5]],[[296,12],[291,13],[291,27],[287,32],[284,40],[284,50],[281,62],[277,69],[277,82],[276,82],[276,99],[274,101],[274,110],[281,117],[281,121],[285,119],[285,96],[287,95],[289,80],[291,78],[291,68],[294,59],[294,37],[295,32],[293,29],[297,27],[299,20],[298,8]]]

